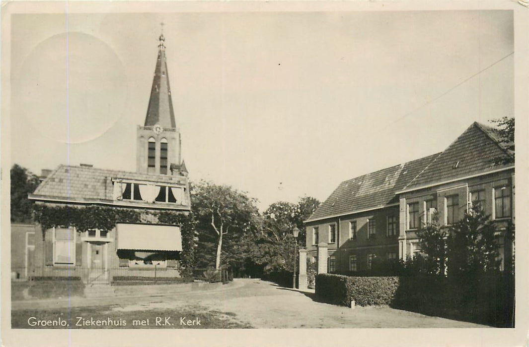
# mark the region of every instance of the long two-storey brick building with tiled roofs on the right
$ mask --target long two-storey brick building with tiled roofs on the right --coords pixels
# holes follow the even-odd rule
[[[473,123],[443,152],[344,181],[305,221],[307,256],[329,272],[367,270],[372,260],[420,252],[415,231],[439,212],[448,225],[480,204],[498,224],[502,258],[512,255],[514,164],[496,130]]]

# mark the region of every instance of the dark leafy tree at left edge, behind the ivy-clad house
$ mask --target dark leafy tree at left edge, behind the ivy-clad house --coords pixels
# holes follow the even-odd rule
[[[11,221],[29,222],[32,220],[33,202],[28,199],[39,186],[37,175],[18,164],[11,168]]]

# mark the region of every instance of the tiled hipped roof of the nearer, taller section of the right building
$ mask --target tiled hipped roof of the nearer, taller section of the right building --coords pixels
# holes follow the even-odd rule
[[[508,156],[510,154],[501,145],[497,130],[474,122],[409,182],[404,190],[512,166],[497,164],[498,158]]]

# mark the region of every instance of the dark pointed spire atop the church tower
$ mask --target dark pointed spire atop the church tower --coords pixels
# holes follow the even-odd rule
[[[159,124],[162,128],[176,128],[175,112],[172,109],[171,87],[165,54],[165,37],[163,33],[158,38],[158,60],[154,69],[151,97],[145,116],[144,126]]]

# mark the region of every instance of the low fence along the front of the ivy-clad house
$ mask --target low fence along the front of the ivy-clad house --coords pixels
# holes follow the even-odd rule
[[[90,269],[86,267],[57,267],[44,266],[33,269],[12,268],[13,281],[41,280],[41,279],[78,279],[85,283],[108,282],[116,285],[129,284],[167,284],[178,282],[222,282],[226,284],[233,279],[230,271],[226,269],[193,269],[192,276],[184,278],[181,270],[167,267],[130,268],[118,267],[108,269]]]

